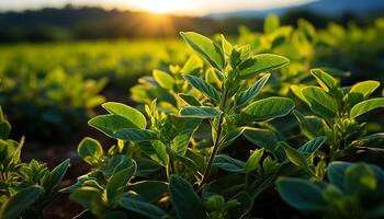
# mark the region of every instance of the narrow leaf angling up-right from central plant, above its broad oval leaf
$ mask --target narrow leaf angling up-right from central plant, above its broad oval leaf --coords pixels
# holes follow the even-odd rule
[[[248,88],[246,91],[242,91],[238,95],[236,95],[236,106],[241,107],[244,105],[247,105],[249,102],[251,102],[262,90],[262,88],[266,85],[270,73],[266,73],[266,76],[261,77],[253,85]]]

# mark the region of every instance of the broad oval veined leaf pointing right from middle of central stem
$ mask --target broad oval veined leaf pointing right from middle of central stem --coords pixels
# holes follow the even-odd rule
[[[256,101],[242,110],[246,118],[251,120],[269,120],[287,115],[295,107],[295,103],[287,97],[267,97]]]

